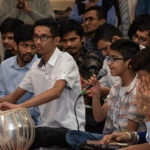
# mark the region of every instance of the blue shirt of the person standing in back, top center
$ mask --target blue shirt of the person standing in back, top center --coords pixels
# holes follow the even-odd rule
[[[99,0],[96,5],[102,6],[102,0]],[[78,22],[82,22],[82,15],[79,16],[77,4],[75,4],[73,10],[70,13],[69,18],[74,19]],[[112,6],[107,12],[107,23],[112,25],[115,25],[116,23],[116,14],[114,6]]]

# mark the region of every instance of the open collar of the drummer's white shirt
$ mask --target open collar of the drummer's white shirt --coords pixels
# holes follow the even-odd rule
[[[46,64],[51,65],[52,67],[54,67],[58,57],[62,54],[62,52],[56,47],[55,51],[53,52],[52,56],[49,58],[48,62]],[[43,58],[41,58],[38,67],[42,67],[44,65],[44,60]]]

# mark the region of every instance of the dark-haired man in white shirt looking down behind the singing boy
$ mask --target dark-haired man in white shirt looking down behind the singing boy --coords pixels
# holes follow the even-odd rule
[[[112,42],[120,39],[121,37],[122,33],[120,32],[120,30],[109,24],[100,26],[95,32],[94,41],[97,45],[98,50],[102,52],[103,56],[105,56],[103,68],[107,70],[107,75],[100,79],[102,95],[109,94],[110,88],[120,82],[119,77],[111,75],[108,62],[110,45],[112,44]]]

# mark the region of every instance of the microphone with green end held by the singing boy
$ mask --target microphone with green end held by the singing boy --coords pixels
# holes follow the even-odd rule
[[[96,77],[97,80],[101,79],[103,76],[105,76],[107,74],[107,70],[106,69],[101,69]],[[92,85],[87,85],[82,92],[80,93],[80,96],[82,96],[89,88],[91,88]]]

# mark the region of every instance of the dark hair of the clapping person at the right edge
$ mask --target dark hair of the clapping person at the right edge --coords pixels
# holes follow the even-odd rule
[[[130,65],[135,72],[145,70],[150,73],[150,46],[137,53],[137,55],[131,59]]]

